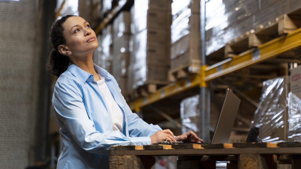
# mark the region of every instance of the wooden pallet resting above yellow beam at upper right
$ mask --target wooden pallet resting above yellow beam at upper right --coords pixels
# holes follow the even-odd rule
[[[276,20],[269,21],[267,25],[260,25],[256,29],[251,29],[245,34],[229,41],[224,47],[210,54],[209,57],[235,57],[272,39],[293,32],[301,28],[301,16],[299,13],[283,14],[277,17]]]

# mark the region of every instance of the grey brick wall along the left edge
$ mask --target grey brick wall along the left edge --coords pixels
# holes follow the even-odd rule
[[[0,168],[29,165],[35,2],[0,1]]]

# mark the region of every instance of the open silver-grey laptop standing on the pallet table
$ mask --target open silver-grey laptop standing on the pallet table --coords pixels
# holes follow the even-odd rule
[[[239,104],[240,99],[231,90],[227,89],[211,143],[228,143]]]

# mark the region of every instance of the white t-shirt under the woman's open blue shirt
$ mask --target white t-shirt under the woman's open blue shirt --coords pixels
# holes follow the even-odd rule
[[[99,75],[99,74],[98,74]],[[120,131],[122,132],[123,127],[123,113],[121,112],[118,104],[114,100],[110,89],[108,88],[106,82],[104,81],[104,78],[100,76],[100,80],[96,81],[98,84],[98,87],[102,94],[104,95],[104,98],[106,100],[107,105],[109,106],[109,110],[112,115],[112,122],[113,122],[113,131]]]

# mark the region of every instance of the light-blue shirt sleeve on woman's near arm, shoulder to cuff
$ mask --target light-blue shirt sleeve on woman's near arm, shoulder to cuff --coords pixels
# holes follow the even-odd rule
[[[53,94],[53,109],[62,130],[70,133],[75,142],[85,151],[108,155],[110,146],[146,145],[149,137],[129,137],[119,131],[100,133],[90,120],[83,102],[81,88],[72,80],[57,81]],[[59,122],[59,124],[60,124]]]

